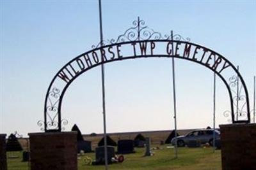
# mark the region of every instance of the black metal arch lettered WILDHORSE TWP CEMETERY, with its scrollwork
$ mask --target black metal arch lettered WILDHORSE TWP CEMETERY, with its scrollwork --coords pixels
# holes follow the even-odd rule
[[[70,60],[58,71],[45,97],[44,122],[38,122],[42,130],[45,132],[61,131],[62,126],[67,124],[67,120],[61,119],[61,104],[68,86],[79,75],[93,67],[100,66],[101,58],[104,59],[103,63],[108,63],[141,57],[175,57],[201,64],[214,71],[225,83],[230,97],[232,123],[250,122],[248,90],[243,77],[230,61],[220,53],[191,43],[190,39],[184,39],[179,34],[162,36],[161,33],[145,26],[143,20],[136,20],[132,24],[134,27],[127,29],[116,40],[104,41],[102,47],[99,47],[100,43],[92,46],[92,50]],[[238,82],[241,82],[241,89],[239,89],[240,95],[236,96],[235,89]],[[238,108],[238,104],[240,107],[235,113],[234,108]]]

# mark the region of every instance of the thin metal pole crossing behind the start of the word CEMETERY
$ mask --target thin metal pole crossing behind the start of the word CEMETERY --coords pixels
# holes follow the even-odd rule
[[[173,31],[171,32],[171,38],[173,41]],[[172,55],[173,53],[173,43],[172,43]],[[175,89],[175,62],[174,57],[172,57],[172,82],[173,82],[173,109],[174,109],[174,126],[175,126],[175,138],[177,138],[177,118],[176,118],[176,89]],[[177,140],[175,140],[175,158],[178,158]]]

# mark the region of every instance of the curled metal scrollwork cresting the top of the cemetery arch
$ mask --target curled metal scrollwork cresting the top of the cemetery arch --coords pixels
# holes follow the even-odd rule
[[[175,39],[177,41],[190,41],[190,38],[183,38],[180,34],[164,34],[162,35],[160,32],[154,31],[148,26],[145,26],[145,21],[134,20],[132,22],[132,27],[127,29],[124,34],[118,36],[117,39],[107,39],[102,41],[102,45],[113,45],[115,43],[123,43],[126,41],[143,41],[143,40],[150,40],[150,39],[165,39],[165,40],[172,40]],[[92,45],[92,48],[98,48],[101,42],[97,45]]]

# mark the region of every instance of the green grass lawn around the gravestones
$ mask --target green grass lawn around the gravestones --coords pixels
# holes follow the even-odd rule
[[[212,148],[179,148],[179,158],[174,159],[174,149],[161,146],[161,150],[154,150],[154,156],[143,157],[145,148],[135,148],[136,153],[124,155],[123,163],[111,164],[109,169],[127,170],[217,170],[221,169],[221,152]],[[20,153],[20,158],[22,157]],[[85,157],[95,159],[95,153],[84,153],[78,159],[79,170],[100,170],[104,166],[86,165]],[[8,159],[8,169],[28,170],[28,162],[20,159]]]

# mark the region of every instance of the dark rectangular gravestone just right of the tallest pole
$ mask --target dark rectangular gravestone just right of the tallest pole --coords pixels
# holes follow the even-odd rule
[[[119,140],[117,143],[117,153],[134,153],[134,146],[132,140]]]

